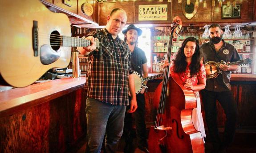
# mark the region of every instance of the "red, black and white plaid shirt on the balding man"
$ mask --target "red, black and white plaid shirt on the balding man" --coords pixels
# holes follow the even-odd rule
[[[132,70],[127,43],[118,36],[113,39],[105,28],[89,35],[98,38],[101,44],[88,55],[87,97],[113,105],[129,105],[128,82]]]

